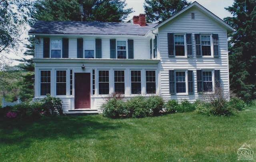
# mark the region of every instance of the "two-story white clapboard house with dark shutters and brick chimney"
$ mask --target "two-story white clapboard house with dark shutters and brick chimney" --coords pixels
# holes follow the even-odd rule
[[[197,2],[168,20],[146,23],[37,21],[35,98],[62,99],[64,113],[98,112],[114,92],[126,98],[229,95],[228,38],[234,29]]]

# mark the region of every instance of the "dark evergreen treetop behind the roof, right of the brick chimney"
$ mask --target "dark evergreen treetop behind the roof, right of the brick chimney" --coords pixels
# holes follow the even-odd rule
[[[189,4],[186,0],[145,0],[146,21],[161,23]]]

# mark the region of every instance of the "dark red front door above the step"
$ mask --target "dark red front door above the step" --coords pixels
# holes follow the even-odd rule
[[[75,109],[90,109],[90,73],[75,73]]]

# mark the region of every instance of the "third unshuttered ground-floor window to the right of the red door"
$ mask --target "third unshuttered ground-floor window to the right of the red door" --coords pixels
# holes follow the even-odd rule
[[[132,94],[141,94],[141,74],[139,70],[131,71]]]

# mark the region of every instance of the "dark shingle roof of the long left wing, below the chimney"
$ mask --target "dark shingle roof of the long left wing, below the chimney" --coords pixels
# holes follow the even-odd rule
[[[146,35],[157,23],[140,26],[123,22],[37,21],[30,34]]]

